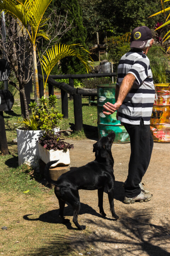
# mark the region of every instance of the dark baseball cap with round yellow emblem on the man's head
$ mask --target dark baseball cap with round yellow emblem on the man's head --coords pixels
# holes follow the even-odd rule
[[[146,26],[137,27],[132,31],[130,39],[130,48],[144,48],[148,42],[148,39],[152,38],[152,32],[150,28]]]

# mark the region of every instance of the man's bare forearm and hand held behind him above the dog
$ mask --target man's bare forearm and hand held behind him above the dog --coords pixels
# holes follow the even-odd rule
[[[104,114],[107,114],[107,115],[113,114],[116,110],[119,109],[119,107],[122,105],[125,97],[131,90],[132,85],[135,82],[135,79],[136,78],[133,74],[131,74],[131,73],[126,74],[126,76],[124,77],[124,79],[121,82],[120,89],[118,90],[118,88],[116,87],[116,90],[115,90],[116,102],[114,104],[107,102],[103,105],[103,107],[104,107],[103,113]]]

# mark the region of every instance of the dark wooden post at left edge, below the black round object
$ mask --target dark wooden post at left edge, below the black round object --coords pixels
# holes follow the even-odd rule
[[[6,132],[5,132],[5,123],[4,123],[4,115],[3,111],[0,111],[0,148],[1,154],[8,155],[8,144],[6,139]]]

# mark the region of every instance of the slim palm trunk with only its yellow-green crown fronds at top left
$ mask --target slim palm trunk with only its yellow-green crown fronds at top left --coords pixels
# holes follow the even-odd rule
[[[22,33],[28,33],[33,47],[35,101],[39,98],[38,69],[36,62],[36,38],[49,39],[44,26],[44,12],[52,0],[1,0],[0,9],[16,19]],[[29,30],[30,25],[30,30]]]

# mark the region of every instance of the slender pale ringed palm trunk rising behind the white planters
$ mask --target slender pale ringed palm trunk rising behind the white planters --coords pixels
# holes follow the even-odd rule
[[[36,62],[36,46],[33,45],[33,57],[34,57],[34,97],[35,102],[39,105],[38,99],[40,98],[39,83],[38,83],[38,68]]]

